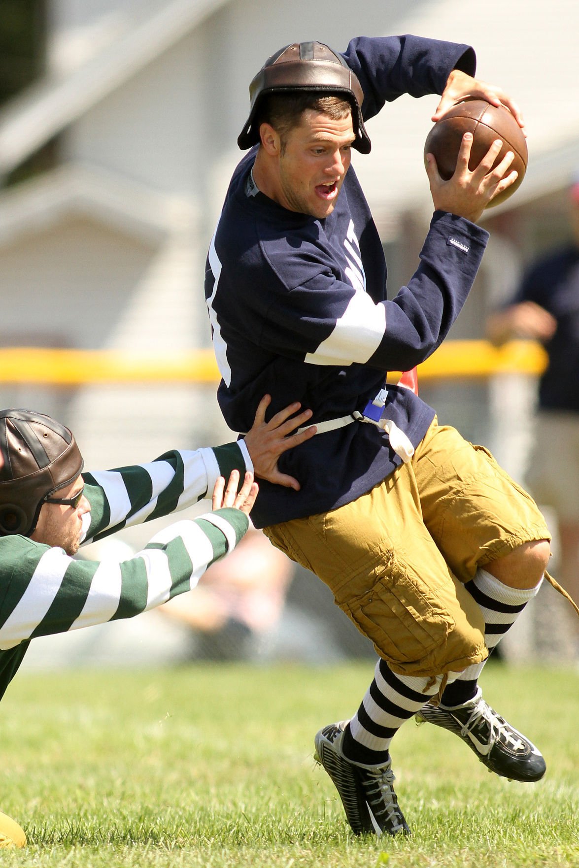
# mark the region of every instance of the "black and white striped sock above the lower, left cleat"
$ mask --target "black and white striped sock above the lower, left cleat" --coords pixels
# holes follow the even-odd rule
[[[383,765],[398,728],[438,694],[441,681],[442,675],[431,679],[395,674],[385,660],[379,660],[374,680],[345,728],[345,756],[365,766]]]

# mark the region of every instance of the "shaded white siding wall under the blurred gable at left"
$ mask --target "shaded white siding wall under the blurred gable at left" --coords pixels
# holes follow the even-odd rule
[[[0,247],[3,343],[111,345],[158,251],[82,216]]]

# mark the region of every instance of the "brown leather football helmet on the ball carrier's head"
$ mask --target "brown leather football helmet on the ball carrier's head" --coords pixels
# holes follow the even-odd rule
[[[358,76],[344,58],[324,43],[293,43],[268,57],[249,85],[251,110],[237,140],[242,150],[260,141],[255,125],[260,102],[267,94],[310,90],[324,95],[341,95],[352,104],[352,121],[356,140],[352,148],[369,154],[372,147],[362,118],[364,93]]]

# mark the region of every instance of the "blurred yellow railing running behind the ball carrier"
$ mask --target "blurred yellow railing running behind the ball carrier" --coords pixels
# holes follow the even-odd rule
[[[514,340],[495,347],[485,340],[449,340],[418,366],[418,379],[424,382],[441,378],[486,378],[508,372],[536,375],[543,371],[545,364],[543,347],[533,341]],[[76,386],[95,383],[214,383],[218,379],[213,350],[137,353],[0,348],[1,383]]]

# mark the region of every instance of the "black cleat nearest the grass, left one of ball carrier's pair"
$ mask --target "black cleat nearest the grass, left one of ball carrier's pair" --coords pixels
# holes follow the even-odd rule
[[[352,832],[382,835],[410,835],[394,792],[391,760],[384,766],[359,766],[346,759],[341,750],[348,720],[324,727],[315,737],[314,759],[324,766],[342,799]]]

